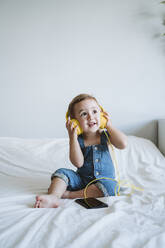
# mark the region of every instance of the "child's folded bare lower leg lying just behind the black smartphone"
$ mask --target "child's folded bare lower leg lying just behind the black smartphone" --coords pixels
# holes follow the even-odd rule
[[[94,184],[90,185],[87,190],[87,197],[103,197],[103,193]],[[75,199],[84,198],[84,189],[77,191],[65,191],[62,198]]]

